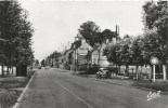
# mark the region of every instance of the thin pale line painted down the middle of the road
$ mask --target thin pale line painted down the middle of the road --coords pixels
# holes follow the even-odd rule
[[[80,102],[82,102],[83,104],[86,104],[89,108],[94,108],[92,105],[88,104],[87,102],[85,102],[82,98],[80,98],[78,95],[76,95],[75,93],[73,93],[70,90],[68,90],[67,87],[65,87],[63,84],[56,82],[60,86],[62,86],[65,91],[69,92],[72,95],[74,95],[77,99],[79,99]]]

